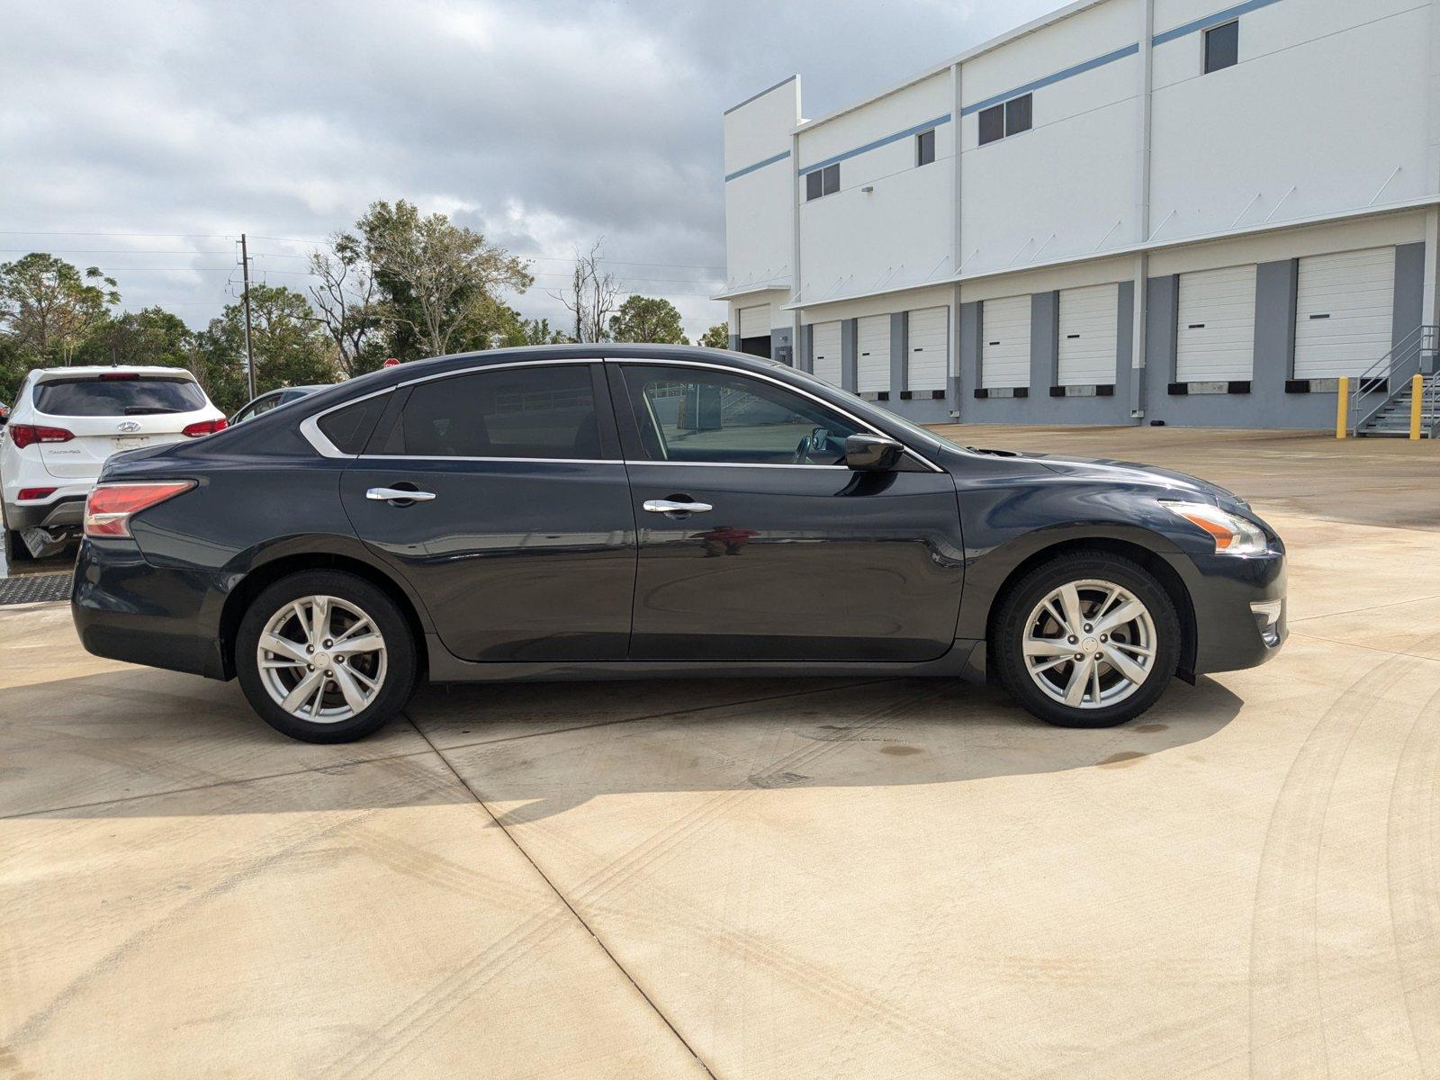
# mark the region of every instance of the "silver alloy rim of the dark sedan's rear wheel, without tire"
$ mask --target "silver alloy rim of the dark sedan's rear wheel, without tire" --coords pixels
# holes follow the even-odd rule
[[[338,596],[302,596],[275,612],[255,649],[261,683],[298,720],[334,724],[374,701],[384,684],[380,628]]]

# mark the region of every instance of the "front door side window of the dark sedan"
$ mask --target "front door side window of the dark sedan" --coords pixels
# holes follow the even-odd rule
[[[845,439],[865,431],[809,397],[724,372],[626,364],[625,387],[649,461],[844,465]]]

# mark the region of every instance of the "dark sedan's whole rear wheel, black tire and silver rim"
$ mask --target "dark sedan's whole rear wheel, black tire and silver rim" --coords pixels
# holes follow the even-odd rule
[[[271,727],[308,743],[344,743],[405,707],[418,662],[415,635],[382,589],[350,573],[305,570],[246,609],[235,667]]]

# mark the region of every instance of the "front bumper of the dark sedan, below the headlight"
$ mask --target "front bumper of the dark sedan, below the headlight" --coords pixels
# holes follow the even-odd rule
[[[1174,556],[1195,619],[1191,674],[1238,671],[1274,658],[1290,631],[1284,552],[1263,556]],[[1270,619],[1274,602],[1279,616]]]

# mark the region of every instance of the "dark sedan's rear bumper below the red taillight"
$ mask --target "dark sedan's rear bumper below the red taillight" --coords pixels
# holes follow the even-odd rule
[[[82,540],[71,586],[81,644],[96,657],[229,678],[216,590],[193,572],[157,569],[130,540]]]

